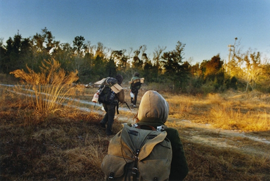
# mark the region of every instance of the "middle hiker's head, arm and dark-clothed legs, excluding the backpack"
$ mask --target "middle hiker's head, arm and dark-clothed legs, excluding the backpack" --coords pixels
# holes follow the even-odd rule
[[[123,81],[123,76],[120,74],[116,75],[115,79],[117,79],[117,83],[121,85]],[[119,93],[116,94],[116,97],[114,98],[113,102],[110,104],[102,103],[106,114],[104,118],[101,120],[100,125],[103,128],[106,128],[106,134],[111,135],[112,134],[112,124],[114,122],[114,116],[116,111],[116,106],[120,103],[126,103],[125,102],[125,93],[124,89],[122,89]],[[107,124],[107,127],[106,127]]]

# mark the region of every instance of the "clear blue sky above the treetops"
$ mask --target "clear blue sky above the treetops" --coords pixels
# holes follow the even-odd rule
[[[83,36],[112,50],[146,45],[172,51],[186,44],[192,64],[220,54],[228,59],[235,38],[270,58],[270,0],[0,0],[0,38],[27,38],[47,27],[56,41]]]

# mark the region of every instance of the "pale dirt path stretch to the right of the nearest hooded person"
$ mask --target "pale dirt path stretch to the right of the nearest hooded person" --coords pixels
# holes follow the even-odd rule
[[[181,137],[194,143],[213,147],[236,149],[251,155],[270,156],[270,139],[237,130],[216,129],[209,124],[192,123],[189,120],[169,119],[181,127]]]

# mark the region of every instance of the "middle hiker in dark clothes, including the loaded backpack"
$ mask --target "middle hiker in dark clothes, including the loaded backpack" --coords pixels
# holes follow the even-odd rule
[[[120,74],[116,75],[115,79],[117,80],[117,83],[121,85],[123,81],[123,76]],[[105,86],[105,85],[102,85]],[[101,87],[102,89],[103,87]],[[104,118],[101,120],[100,125],[103,128],[106,128],[106,134],[111,135],[112,134],[112,125],[114,122],[114,116],[115,116],[115,111],[116,107],[118,108],[118,104],[120,103],[126,103],[125,102],[125,94],[124,94],[124,89],[122,89],[119,93],[115,94],[111,89],[108,87],[108,91],[110,95],[107,95],[108,93],[105,93],[106,95],[99,97],[99,102],[102,103],[106,114]],[[105,98],[104,98],[105,97]],[[111,99],[109,101],[106,100],[106,98]],[[101,99],[104,99],[101,100]],[[118,109],[117,109],[118,110]],[[107,124],[107,127],[106,127]]]

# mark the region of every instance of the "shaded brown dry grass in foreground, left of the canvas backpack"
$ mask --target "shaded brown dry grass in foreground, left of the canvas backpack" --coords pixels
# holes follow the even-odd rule
[[[100,165],[109,140],[99,127],[101,115],[65,108],[38,116],[27,105],[12,104],[16,97],[2,95],[1,181],[103,179]]]

